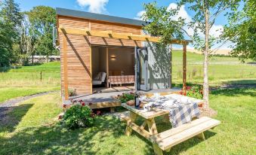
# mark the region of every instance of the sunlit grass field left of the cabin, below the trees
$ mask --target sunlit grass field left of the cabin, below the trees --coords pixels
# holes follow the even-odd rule
[[[40,71],[42,71],[42,81]],[[60,90],[60,62],[22,66],[0,72],[0,103],[50,90]]]

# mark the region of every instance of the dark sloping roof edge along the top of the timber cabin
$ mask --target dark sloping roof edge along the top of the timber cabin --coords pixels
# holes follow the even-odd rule
[[[67,17],[78,17],[78,18],[84,18],[88,20],[100,20],[100,21],[106,21],[110,23],[122,23],[122,24],[127,24],[132,26],[147,25],[142,20],[133,20],[129,18],[109,16],[105,14],[94,14],[91,12],[75,11],[75,10],[70,10],[66,8],[56,8],[56,13],[57,15],[62,15]]]

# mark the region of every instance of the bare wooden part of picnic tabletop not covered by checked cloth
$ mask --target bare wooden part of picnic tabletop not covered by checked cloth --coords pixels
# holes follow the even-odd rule
[[[128,109],[131,112],[134,112],[135,114],[140,115],[141,117],[144,117],[145,119],[150,119],[154,117],[159,117],[165,114],[169,114],[168,110],[159,109],[159,108],[153,108],[152,111],[143,111],[143,108],[137,109],[134,106],[127,105],[126,103],[121,104],[122,107]]]

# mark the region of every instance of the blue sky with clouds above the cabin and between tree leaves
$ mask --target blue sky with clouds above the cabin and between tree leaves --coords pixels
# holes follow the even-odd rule
[[[14,0],[20,5],[21,11],[29,11],[35,6],[46,5],[52,8],[68,8],[78,11],[88,11],[98,14],[108,14],[116,17],[127,17],[131,19],[140,19],[140,15],[143,14],[143,4],[149,2],[155,2],[156,0]],[[159,6],[166,6],[168,8],[175,8],[177,1],[162,0],[156,1]],[[187,6],[183,6],[180,9],[177,17],[184,17],[189,22],[193,17],[194,12],[190,11]],[[221,14],[214,26],[212,27],[210,34],[218,36],[221,34],[221,29],[227,24],[227,18],[224,14]],[[192,29],[187,29],[189,33],[193,33]],[[230,43],[224,44],[222,49],[229,49]],[[177,46],[177,48],[180,48]],[[193,48],[189,45],[188,48]]]

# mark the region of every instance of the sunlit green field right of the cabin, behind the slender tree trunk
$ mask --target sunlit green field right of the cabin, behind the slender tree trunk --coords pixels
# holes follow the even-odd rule
[[[182,83],[182,52],[175,50],[172,56],[172,81]],[[202,84],[203,55],[187,53],[187,82]],[[242,63],[236,57],[211,56],[209,58],[209,83],[220,84],[256,84],[256,65]]]

